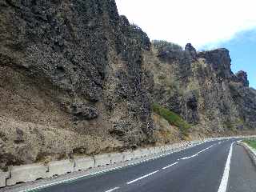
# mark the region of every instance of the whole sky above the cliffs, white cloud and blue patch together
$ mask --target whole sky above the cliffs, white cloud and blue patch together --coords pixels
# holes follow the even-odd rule
[[[226,47],[232,70],[256,88],[256,0],[116,0],[119,14],[162,39],[198,50]]]

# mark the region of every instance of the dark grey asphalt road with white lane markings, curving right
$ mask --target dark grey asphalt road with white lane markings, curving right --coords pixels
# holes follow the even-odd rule
[[[256,170],[246,151],[232,145],[235,141],[206,142],[136,166],[39,191],[255,192]]]

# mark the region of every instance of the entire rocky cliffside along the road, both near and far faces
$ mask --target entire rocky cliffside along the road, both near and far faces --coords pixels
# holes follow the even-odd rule
[[[114,0],[0,0],[1,169],[184,139],[154,103],[187,139],[254,129],[255,98],[227,50],[158,50]]]

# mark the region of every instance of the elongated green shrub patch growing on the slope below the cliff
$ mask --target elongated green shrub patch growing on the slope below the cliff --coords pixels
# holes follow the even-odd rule
[[[162,107],[157,103],[154,103],[152,108],[154,113],[160,115],[162,118],[165,118],[171,125],[178,126],[181,133],[187,136],[187,131],[190,129],[190,124],[183,120],[180,115],[167,110],[165,107]]]

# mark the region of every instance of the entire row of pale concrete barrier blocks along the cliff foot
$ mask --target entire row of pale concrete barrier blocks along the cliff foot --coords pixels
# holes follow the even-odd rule
[[[255,136],[253,136],[255,137]],[[245,137],[232,137],[245,138]],[[249,137],[248,137],[249,138]],[[80,170],[95,170],[98,167],[110,166],[117,163],[127,162],[126,166],[140,162],[140,159],[160,158],[164,155],[174,153],[179,150],[197,146],[204,142],[222,140],[227,138],[206,138],[204,141],[181,142],[166,146],[154,146],[123,153],[98,154],[94,157],[79,157],[71,160],[61,160],[49,162],[48,165],[30,164],[25,166],[10,167],[9,171],[0,171],[0,188],[13,186],[21,182],[34,182],[42,178],[52,178]],[[145,161],[145,160],[143,160]],[[143,162],[141,161],[141,162]],[[106,170],[107,171],[107,170]]]

